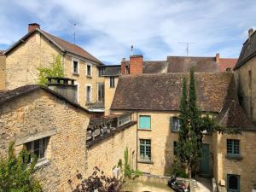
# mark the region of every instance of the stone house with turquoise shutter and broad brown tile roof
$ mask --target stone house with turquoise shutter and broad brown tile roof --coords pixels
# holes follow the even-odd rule
[[[111,113],[134,113],[137,120],[137,168],[154,174],[170,174],[177,153],[178,111],[183,77],[189,73],[125,75],[119,78]],[[207,134],[199,175],[237,191],[249,191],[256,183],[256,127],[241,108],[234,73],[195,73],[197,103],[203,113],[241,131]],[[249,165],[249,166],[247,166]]]

